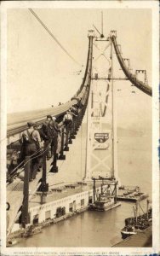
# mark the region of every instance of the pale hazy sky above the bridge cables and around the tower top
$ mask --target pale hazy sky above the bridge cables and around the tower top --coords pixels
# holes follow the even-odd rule
[[[102,9],[33,10],[80,65],[60,49],[28,9],[8,9],[8,113],[49,108],[69,101],[82,83],[88,31],[94,28],[93,24],[101,29]],[[123,57],[130,59],[133,71],[146,69],[151,85],[151,9],[103,9],[103,17],[105,36],[117,30],[117,43],[122,46]],[[122,74],[114,58],[114,73]],[[82,72],[77,75],[79,70]],[[151,97],[140,90],[136,90],[136,98],[130,89],[126,94],[129,82],[115,84],[125,86],[117,95],[117,113],[122,113],[125,102],[130,112],[123,109],[122,119],[131,112],[141,119],[137,112],[139,105],[147,123],[148,116],[151,117]]]

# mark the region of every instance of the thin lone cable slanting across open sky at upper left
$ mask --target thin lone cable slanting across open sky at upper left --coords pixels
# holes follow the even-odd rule
[[[63,51],[65,51],[66,55],[68,55],[72,61],[74,61],[75,63],[77,63],[77,65],[82,66],[79,62],[77,62],[69,53],[68,51],[62,46],[62,44],[60,44],[60,42],[57,40],[57,38],[54,37],[54,34],[52,32],[49,31],[49,28],[47,26],[44,25],[43,21],[37,16],[37,14],[31,9],[29,8],[29,10],[31,11],[31,14],[35,16],[35,18],[39,21],[39,23],[43,26],[43,28],[49,33],[49,35],[54,39],[54,41],[59,44],[60,48],[63,49]]]

